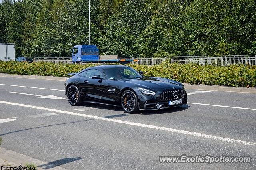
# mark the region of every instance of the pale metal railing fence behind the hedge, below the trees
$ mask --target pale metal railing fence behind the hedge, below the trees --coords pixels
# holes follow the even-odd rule
[[[133,61],[132,64],[141,65],[159,65],[164,61],[170,63],[189,64],[196,63],[200,65],[216,65],[228,66],[233,64],[256,65],[256,55],[232,55],[232,56],[179,56],[179,57],[118,57],[119,59],[138,59],[138,62]],[[34,58],[36,62],[51,62],[51,63],[72,63],[72,58]]]

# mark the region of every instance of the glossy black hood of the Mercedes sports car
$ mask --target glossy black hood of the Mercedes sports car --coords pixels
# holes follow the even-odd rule
[[[182,87],[182,83],[179,83],[178,81],[159,77],[142,77],[140,79],[129,79],[125,82],[132,83],[137,85],[138,87],[144,87],[148,89],[169,89],[172,87]]]

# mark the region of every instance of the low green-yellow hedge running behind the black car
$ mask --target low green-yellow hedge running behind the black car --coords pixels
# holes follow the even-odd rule
[[[94,65],[98,64],[77,65],[0,61],[0,73],[67,77],[68,73],[78,72]],[[146,76],[164,77],[182,83],[256,87],[256,66],[230,65],[228,67],[216,67],[212,65],[170,64],[168,62],[152,67],[128,65],[138,71],[143,71]]]

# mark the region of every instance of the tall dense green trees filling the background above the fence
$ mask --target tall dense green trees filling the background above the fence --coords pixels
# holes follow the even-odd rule
[[[91,43],[102,55],[256,53],[255,0],[93,0]],[[16,57],[70,57],[88,44],[88,0],[2,0],[0,43]]]

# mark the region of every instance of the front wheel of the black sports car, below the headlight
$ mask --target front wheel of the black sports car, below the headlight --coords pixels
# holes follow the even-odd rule
[[[126,90],[121,96],[121,106],[126,113],[136,113],[139,110],[138,98],[131,90]]]

